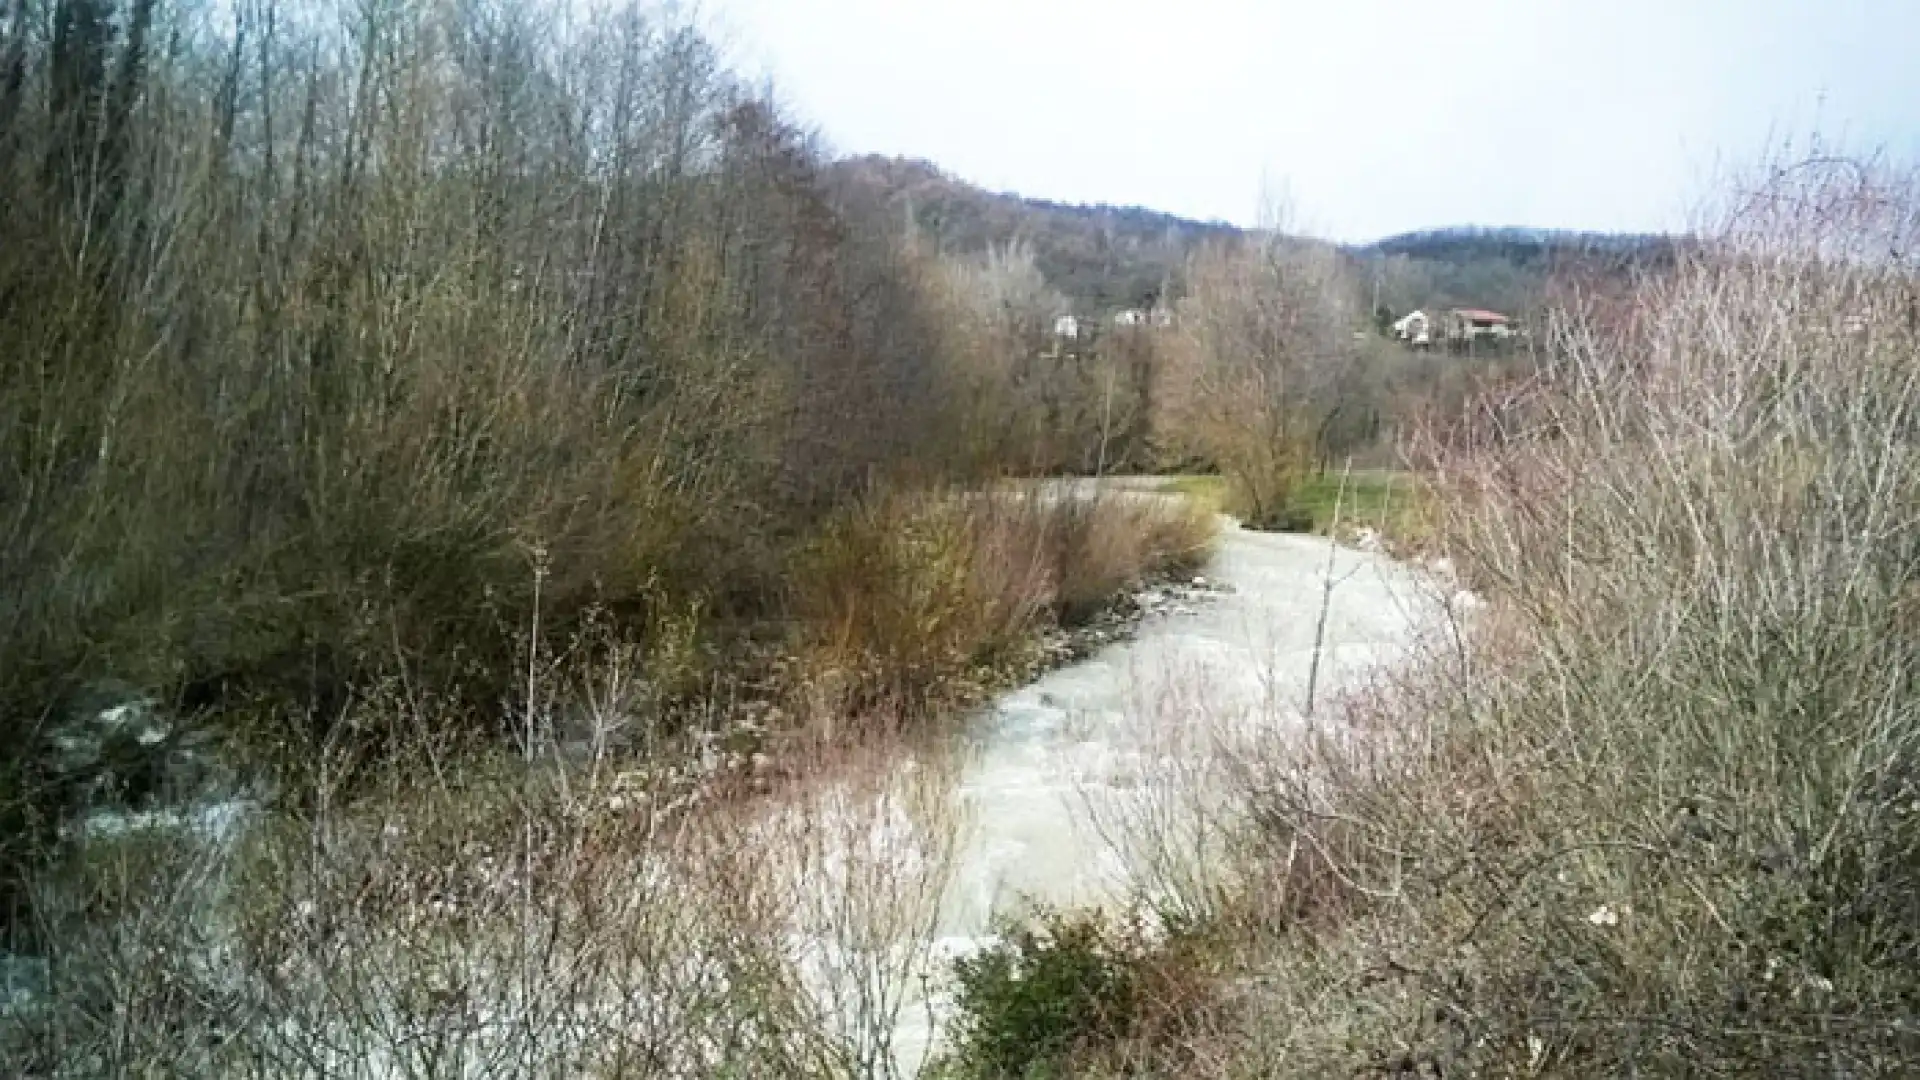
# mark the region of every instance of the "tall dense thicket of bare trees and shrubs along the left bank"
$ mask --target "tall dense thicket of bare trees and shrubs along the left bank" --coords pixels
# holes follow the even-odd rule
[[[920,694],[952,671],[808,617],[958,578],[849,584],[851,523],[1033,461],[947,261],[649,4],[17,0],[0,204],[6,880],[102,794],[67,736],[115,698],[298,767],[413,744],[392,686],[520,730],[536,661],[634,653],[632,730],[791,650]],[[1037,598],[929,655],[1085,601],[1044,517]]]

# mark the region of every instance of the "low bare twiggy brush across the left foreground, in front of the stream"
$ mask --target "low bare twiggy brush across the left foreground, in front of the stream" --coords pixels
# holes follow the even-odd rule
[[[712,753],[447,774],[422,755],[238,842],[84,846],[42,878],[52,978],[0,1017],[8,1059],[46,1076],[895,1074],[960,830],[937,761],[789,759],[776,798],[747,799],[741,763]]]

